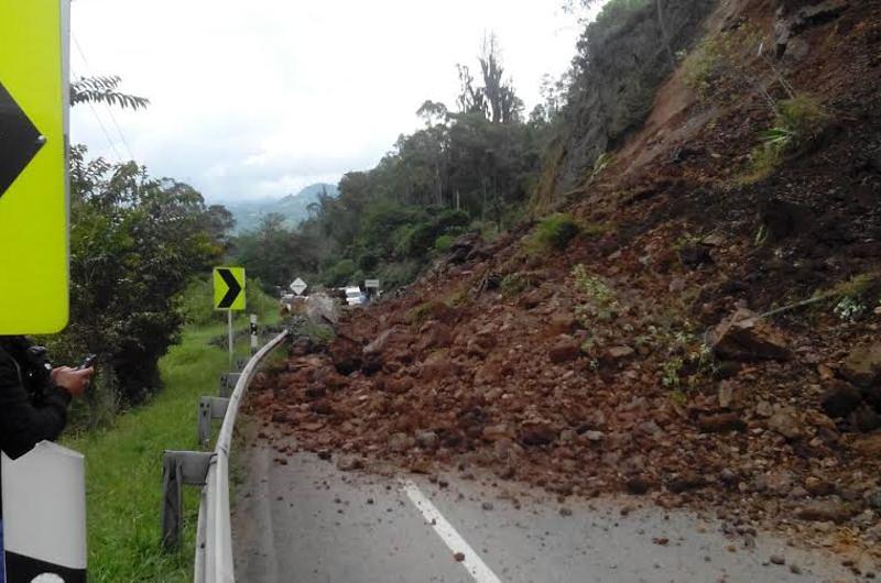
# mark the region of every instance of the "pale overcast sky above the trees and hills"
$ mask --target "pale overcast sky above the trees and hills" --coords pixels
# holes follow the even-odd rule
[[[151,106],[78,106],[72,141],[112,161],[133,155],[209,201],[336,183],[417,129],[425,99],[453,109],[456,64],[478,67],[485,31],[531,110],[542,76],[575,53],[578,26],[561,3],[74,0],[73,75],[120,75]]]

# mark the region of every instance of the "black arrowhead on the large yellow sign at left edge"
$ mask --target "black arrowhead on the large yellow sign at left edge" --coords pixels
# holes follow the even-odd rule
[[[45,143],[46,139],[0,82],[0,198]]]

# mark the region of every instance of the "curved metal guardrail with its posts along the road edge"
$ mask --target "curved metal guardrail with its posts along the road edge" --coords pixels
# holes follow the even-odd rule
[[[287,330],[273,338],[254,354],[241,373],[236,388],[226,403],[226,414],[213,452],[166,451],[163,464],[163,542],[173,547],[178,543],[182,528],[183,484],[202,485],[198,529],[196,532],[195,583],[232,583],[236,575],[232,565],[232,532],[229,515],[229,451],[232,429],[239,405],[260,362],[290,334]],[[217,405],[217,404],[215,404]],[[209,418],[216,406],[199,405]],[[200,428],[199,436],[203,435]]]

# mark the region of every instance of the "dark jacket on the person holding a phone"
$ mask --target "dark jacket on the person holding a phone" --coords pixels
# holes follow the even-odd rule
[[[19,458],[44,439],[54,440],[67,421],[70,395],[34,373],[23,337],[0,337],[0,450]],[[2,505],[0,504],[0,516]]]

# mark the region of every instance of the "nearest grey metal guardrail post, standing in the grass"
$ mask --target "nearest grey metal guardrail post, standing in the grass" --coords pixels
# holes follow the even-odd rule
[[[162,457],[162,546],[181,546],[184,529],[184,484],[204,486],[214,452],[170,451]]]

